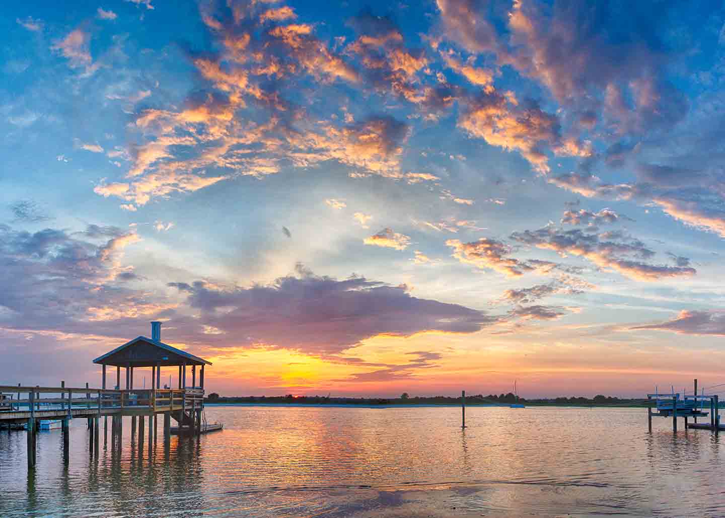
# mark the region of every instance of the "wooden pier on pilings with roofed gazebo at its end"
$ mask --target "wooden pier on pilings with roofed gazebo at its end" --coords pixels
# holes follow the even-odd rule
[[[164,438],[170,439],[171,419],[177,422],[176,434],[199,435],[211,431],[204,422],[204,367],[211,365],[198,356],[169,346],[161,341],[161,322],[152,322],[152,338],[139,336],[115,348],[94,363],[102,368],[101,388],[40,387],[0,385],[0,425],[25,424],[28,430],[28,468],[36,465],[36,433],[41,419],[62,421],[64,455],[67,457],[70,419],[87,419],[91,430],[91,451],[99,448],[99,425],[104,419],[104,441],[107,440],[108,418],[111,418],[112,443],[123,432],[123,417],[131,418],[131,434],[138,428],[138,439],[144,440],[144,419],[149,423],[149,446],[155,440],[155,419],[163,416]],[[107,388],[107,367],[116,367],[115,388]],[[133,369],[152,368],[150,388],[133,388]],[[178,368],[178,388],[160,388],[162,367]],[[191,385],[187,386],[187,367],[191,367]],[[199,367],[197,384],[196,368]],[[125,372],[125,389],[120,388],[121,369]],[[138,421],[138,427],[137,427]],[[218,425],[218,424],[217,424]],[[220,425],[218,425],[220,427]],[[154,430],[154,433],[152,433]]]

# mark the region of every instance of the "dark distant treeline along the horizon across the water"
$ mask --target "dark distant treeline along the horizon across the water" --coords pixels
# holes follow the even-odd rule
[[[318,405],[460,405],[460,396],[410,396],[403,393],[399,398],[343,398],[330,396],[219,396],[218,393],[210,393],[206,398],[207,403],[218,404],[318,404]],[[507,394],[483,394],[466,395],[465,404],[477,405],[498,405],[520,403],[534,406],[645,406],[647,399],[626,399],[601,394],[593,398],[572,396],[571,398],[537,398],[526,399]]]

